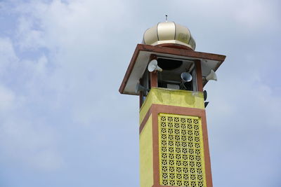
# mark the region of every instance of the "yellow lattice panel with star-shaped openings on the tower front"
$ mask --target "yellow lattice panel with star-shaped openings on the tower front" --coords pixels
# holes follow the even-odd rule
[[[158,121],[160,184],[206,186],[201,119],[159,113]]]

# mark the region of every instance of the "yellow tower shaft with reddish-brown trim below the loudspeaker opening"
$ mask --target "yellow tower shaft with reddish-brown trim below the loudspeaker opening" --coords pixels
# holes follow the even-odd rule
[[[151,88],[139,130],[141,187],[212,186],[202,92]]]

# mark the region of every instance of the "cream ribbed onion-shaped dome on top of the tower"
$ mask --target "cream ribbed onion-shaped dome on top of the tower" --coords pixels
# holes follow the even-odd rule
[[[196,47],[190,30],[175,22],[159,22],[154,27],[147,29],[143,34],[143,44],[151,46],[178,44],[192,50],[195,50]]]

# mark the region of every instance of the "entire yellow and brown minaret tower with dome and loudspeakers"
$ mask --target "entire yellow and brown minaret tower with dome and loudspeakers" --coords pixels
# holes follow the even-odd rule
[[[159,22],[136,46],[119,92],[138,95],[141,187],[211,187],[204,85],[225,55],[195,51],[187,27]]]

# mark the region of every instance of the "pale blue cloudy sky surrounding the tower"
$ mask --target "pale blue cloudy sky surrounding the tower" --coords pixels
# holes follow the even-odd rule
[[[139,186],[138,97],[119,85],[165,15],[226,55],[208,91],[216,187],[281,186],[281,3],[0,0],[0,186]]]

